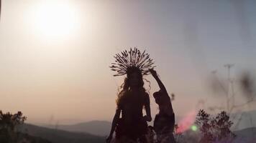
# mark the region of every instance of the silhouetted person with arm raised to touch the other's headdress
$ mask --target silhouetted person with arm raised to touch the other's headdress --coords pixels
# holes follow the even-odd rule
[[[158,92],[153,94],[156,104],[159,106],[159,113],[155,115],[154,130],[157,134],[157,143],[174,143],[173,129],[175,124],[175,114],[165,86],[157,76],[157,72],[150,69],[152,76],[160,87]]]

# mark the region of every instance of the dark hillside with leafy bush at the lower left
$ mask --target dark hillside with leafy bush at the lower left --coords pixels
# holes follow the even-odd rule
[[[24,124],[22,112],[0,112],[0,143],[82,143],[104,142],[104,137],[92,134],[66,132],[58,129]]]

